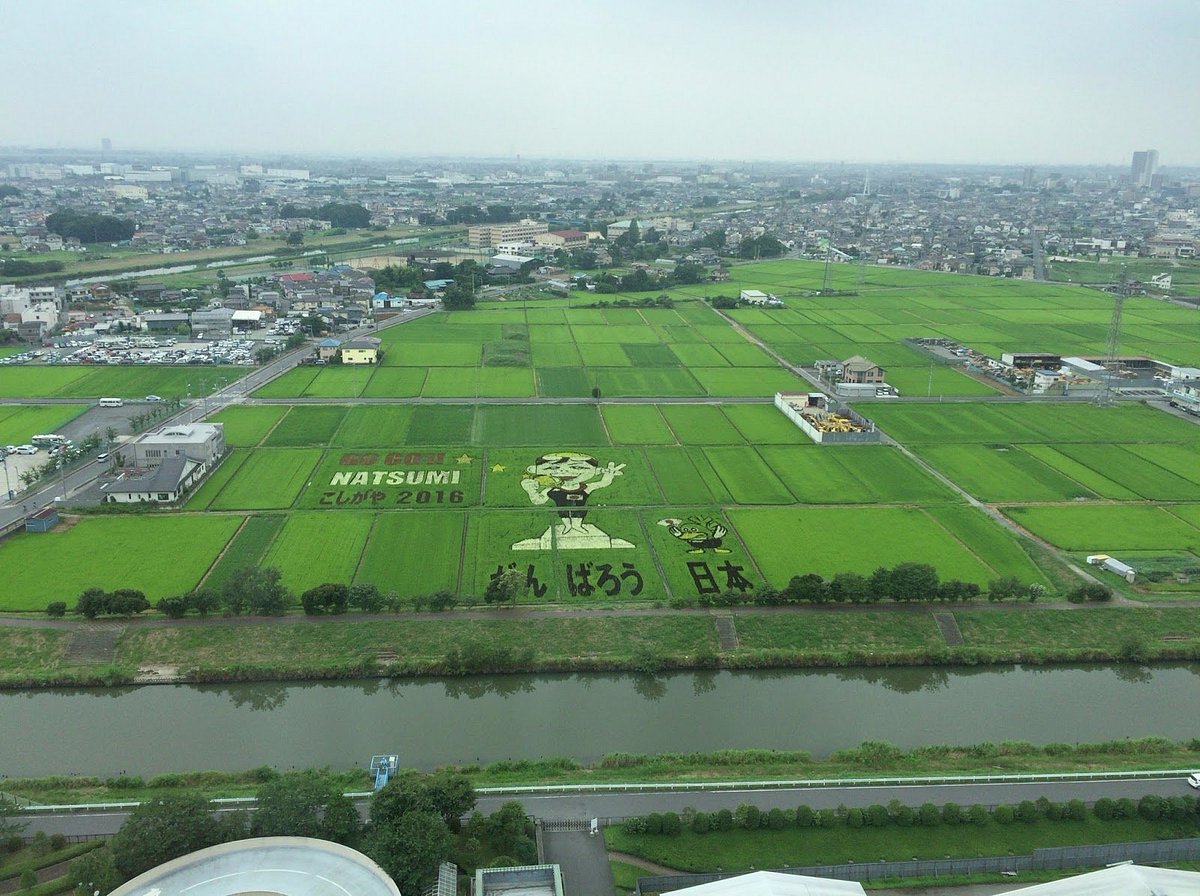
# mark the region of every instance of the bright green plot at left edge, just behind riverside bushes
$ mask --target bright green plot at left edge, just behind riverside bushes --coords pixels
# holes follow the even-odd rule
[[[241,524],[239,516],[85,517],[0,543],[0,609],[73,606],[85,588],[136,588],[150,601],[191,590]],[[64,558],[70,558],[65,563]],[[47,575],[47,570],[55,570]]]

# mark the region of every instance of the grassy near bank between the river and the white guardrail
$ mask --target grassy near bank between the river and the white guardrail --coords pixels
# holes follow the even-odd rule
[[[721,750],[696,753],[610,753],[596,763],[568,757],[503,760],[486,765],[449,765],[470,777],[476,788],[588,787],[600,784],[707,784],[745,782],[794,782],[914,777],[996,777],[1003,775],[1061,775],[1156,772],[1200,766],[1200,738],[1172,741],[1140,738],[1099,744],[1050,744],[1025,741],[1002,744],[936,744],[902,750],[886,742],[866,742],[839,750],[827,758],[803,751]],[[322,769],[344,793],[368,792],[372,778],[366,769]],[[209,799],[253,796],[278,775],[272,768],[245,771],[185,771],[143,777],[118,775],[108,778],[80,775],[6,778],[0,790],[22,801],[41,805],[85,802],[133,802],[157,799],[180,790]]]

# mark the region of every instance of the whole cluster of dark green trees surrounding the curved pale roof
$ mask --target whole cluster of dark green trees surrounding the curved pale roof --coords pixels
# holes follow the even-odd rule
[[[259,788],[253,813],[214,816],[208,800],[196,794],[144,802],[109,847],[73,862],[71,876],[77,891],[109,892],[162,862],[247,836],[316,837],[360,849],[401,892],[421,892],[446,860],[467,870],[536,861],[533,825],[521,804],[508,802],[491,816],[474,807],[474,788],[462,775],[402,772],[374,795],[362,824],[353,801],[328,777],[289,772]]]

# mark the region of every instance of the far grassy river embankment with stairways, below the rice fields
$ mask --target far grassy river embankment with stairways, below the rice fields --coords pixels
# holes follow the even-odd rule
[[[1200,659],[1200,608],[468,611],[0,620],[0,687],[511,672],[1145,663]]]

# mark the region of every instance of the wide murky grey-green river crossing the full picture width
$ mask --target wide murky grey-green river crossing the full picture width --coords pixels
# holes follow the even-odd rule
[[[0,775],[1200,736],[1200,665],[808,669],[0,692]]]

